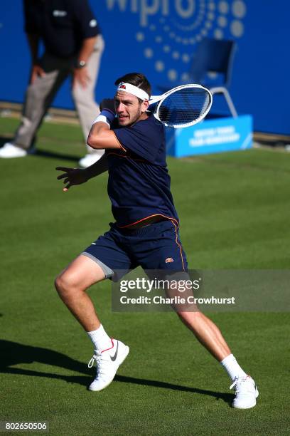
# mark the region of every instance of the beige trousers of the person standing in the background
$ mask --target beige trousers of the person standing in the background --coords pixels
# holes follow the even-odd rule
[[[82,88],[79,83],[72,90],[72,97],[75,103],[82,133],[85,142],[90,132],[92,121],[100,113],[100,108],[95,103],[95,85],[100,70],[100,61],[104,50],[102,36],[97,37],[95,50],[87,61],[87,70],[90,75],[90,82],[87,88]],[[66,78],[72,74],[75,58],[60,59],[45,53],[41,60],[45,71],[44,77],[38,77],[33,85],[28,85],[26,90],[25,103],[21,125],[16,130],[13,140],[15,145],[25,148],[31,147],[40,127],[43,117],[50,107],[55,94]],[[95,152],[102,155],[104,150],[93,150],[87,145],[87,152]]]

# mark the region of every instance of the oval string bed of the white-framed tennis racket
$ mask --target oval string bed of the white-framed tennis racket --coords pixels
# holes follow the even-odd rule
[[[193,123],[208,110],[210,94],[203,88],[185,88],[168,95],[158,108],[159,119],[169,127]]]

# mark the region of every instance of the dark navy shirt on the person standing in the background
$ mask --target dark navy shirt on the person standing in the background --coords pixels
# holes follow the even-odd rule
[[[43,39],[45,51],[69,58],[85,38],[100,33],[87,0],[23,0],[25,31]]]

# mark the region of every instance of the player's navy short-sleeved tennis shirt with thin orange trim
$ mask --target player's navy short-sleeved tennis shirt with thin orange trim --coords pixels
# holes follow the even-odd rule
[[[166,167],[165,128],[150,115],[132,126],[112,125],[123,149],[106,150],[108,194],[119,227],[129,227],[154,215],[178,215]]]

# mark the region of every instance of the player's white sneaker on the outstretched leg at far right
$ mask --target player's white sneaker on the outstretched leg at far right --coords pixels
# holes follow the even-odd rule
[[[235,387],[235,400],[232,407],[236,409],[250,409],[256,405],[256,398],[259,395],[257,386],[252,377],[247,375],[245,378],[235,378],[230,389]]]

